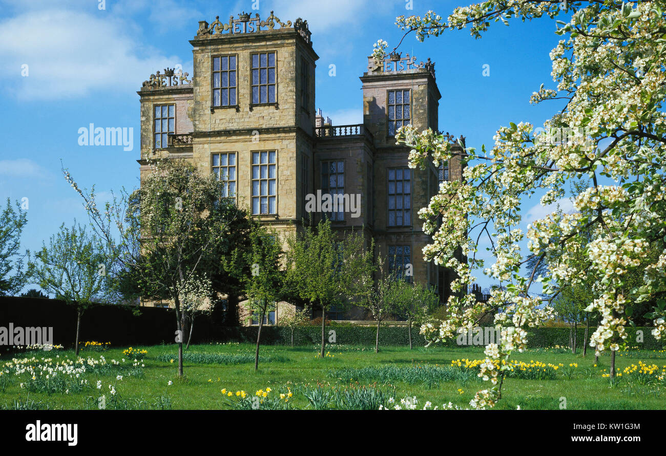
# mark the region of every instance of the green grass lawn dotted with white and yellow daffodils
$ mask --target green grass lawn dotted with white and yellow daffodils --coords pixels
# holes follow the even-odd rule
[[[47,371],[37,373],[35,380],[31,379],[29,369],[15,375],[17,366],[11,363],[11,357],[35,356],[36,361],[23,363],[19,370],[27,366],[35,369],[48,362],[41,358],[51,358],[51,367],[63,359],[75,360],[73,351],[3,354],[0,371],[5,372],[0,375],[0,407],[97,409],[99,397],[105,395],[104,405],[108,409],[230,409],[240,399],[236,391],[245,391],[250,400],[258,390],[262,390],[263,397],[263,392],[270,388],[266,397],[277,398],[279,393],[291,391],[288,406],[302,409],[313,408],[304,393],[321,395],[335,389],[343,394],[350,385],[352,389],[372,385],[370,389],[385,393],[380,401],[394,397],[399,402],[400,398],[416,396],[419,408],[426,401],[440,407],[450,401],[468,407],[476,391],[490,386],[490,382],[478,379],[476,367],[465,367],[464,361],[460,362],[461,367],[452,366],[452,360],[483,358],[482,347],[415,347],[410,351],[408,347],[387,346],[380,347],[380,353],[374,353],[374,347],[329,345],[328,355],[320,359],[318,347],[264,345],[260,350],[259,370],[254,372],[254,346],[251,344],[193,345],[186,351],[184,379],[176,375],[175,345],[134,348],[147,350],[143,367],[141,362],[133,366],[134,358],[127,359],[123,348],[99,352],[83,350],[84,359],[99,360],[103,355],[106,363],[86,364],[86,371],[79,373],[79,377],[76,373],[59,373],[55,380],[52,375],[50,380],[45,379]],[[560,398],[565,397],[567,409],[666,409],[666,351],[619,353],[617,371],[623,375],[614,385],[603,377],[609,369],[609,356],[601,357],[595,367],[593,351],[589,351],[587,357],[562,351],[534,349],[516,353],[513,359],[523,361],[526,366],[516,365],[514,372],[520,371],[523,377],[505,379],[503,397],[497,408],[559,409]],[[535,366],[533,361],[544,365]],[[641,374],[639,361],[648,366],[657,365],[657,368],[647,367]],[[625,373],[625,367],[633,369],[632,364],[636,365],[635,371]],[[118,375],[122,375],[122,379],[118,379]],[[84,384],[80,385],[82,379]],[[100,389],[98,381],[101,381]],[[20,383],[24,383],[23,388]],[[318,383],[322,387],[316,389]],[[111,394],[109,385],[113,386],[115,394]],[[232,397],[228,397],[228,391],[232,392]]]

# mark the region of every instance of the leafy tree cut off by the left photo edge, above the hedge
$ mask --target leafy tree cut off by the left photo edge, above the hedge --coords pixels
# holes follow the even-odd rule
[[[0,212],[0,296],[13,296],[27,283],[23,270],[21,232],[28,222],[27,212],[16,202],[16,209],[7,198],[7,206]]]

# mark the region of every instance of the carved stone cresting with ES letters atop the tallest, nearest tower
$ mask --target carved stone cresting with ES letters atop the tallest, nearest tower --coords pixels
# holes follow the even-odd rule
[[[262,31],[262,29],[274,30],[276,25],[279,25],[280,29],[288,29],[292,27],[292,21],[286,21],[286,23],[280,21],[280,19],[273,14],[273,11],[270,12],[270,16],[268,16],[265,21],[261,20],[259,13],[256,13],[254,17],[251,17],[250,13],[245,13],[243,11],[238,15],[238,19],[234,19],[233,16],[230,16],[229,21],[226,24],[220,22],[219,16],[216,16],[215,21],[210,24],[206,21],[199,21],[196,37],[212,37],[212,35],[221,35],[224,32],[228,32],[232,35],[240,33],[256,33]],[[306,43],[312,46],[312,41],[310,40],[312,34],[308,29],[308,21],[304,21],[299,17],[294,23],[294,30],[303,37]]]

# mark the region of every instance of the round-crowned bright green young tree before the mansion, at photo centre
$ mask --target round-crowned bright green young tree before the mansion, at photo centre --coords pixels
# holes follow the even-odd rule
[[[322,310],[322,345],[326,348],[326,311],[336,304],[344,306],[359,296],[362,275],[367,269],[362,232],[336,236],[329,220],[316,229],[306,226],[302,233],[287,238],[287,280],[290,289],[306,302]]]

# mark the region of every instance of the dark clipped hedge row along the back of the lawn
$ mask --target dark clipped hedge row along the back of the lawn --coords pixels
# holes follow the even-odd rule
[[[39,298],[0,297],[0,326],[39,327],[53,326],[54,343],[72,347],[75,339],[76,312],[59,300]],[[111,342],[112,345],[155,345],[172,343],[176,330],[176,318],[173,310],[163,308],[141,308],[139,316],[133,314],[129,306],[95,306],[81,318],[81,341],[96,340]],[[256,327],[226,327],[214,324],[209,318],[197,318],[194,324],[192,343],[208,342],[254,342]],[[376,328],[372,326],[333,325],[326,330],[334,330],[336,343],[344,345],[374,346]],[[636,331],[643,331],[643,342],[637,343]],[[629,345],[641,349],[661,349],[666,342],[653,338],[651,328],[629,328]],[[593,328],[590,330],[590,334]],[[584,328],[578,330],[578,345],[582,346]],[[319,326],[302,326],[294,332],[295,345],[314,345],[321,340]],[[569,328],[537,328],[532,330],[529,347],[551,347],[569,344]],[[412,328],[414,347],[425,344],[418,328]],[[262,343],[289,345],[291,331],[288,328],[266,326],[262,329]],[[408,345],[406,327],[382,327],[380,345]],[[446,342],[455,347],[456,340]]]

